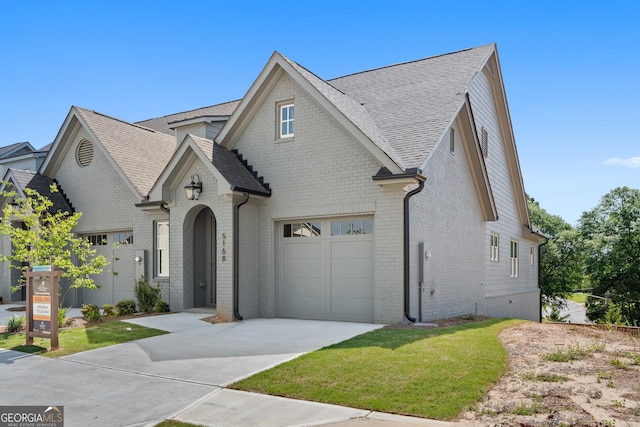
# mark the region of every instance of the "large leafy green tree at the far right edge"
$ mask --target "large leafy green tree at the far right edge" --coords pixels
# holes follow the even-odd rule
[[[579,229],[586,272],[600,297],[588,301],[587,316],[601,321],[613,303],[627,323],[640,324],[640,190],[611,190],[582,214]]]

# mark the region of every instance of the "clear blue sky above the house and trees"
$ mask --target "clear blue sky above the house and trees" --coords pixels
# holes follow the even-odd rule
[[[0,146],[72,105],[127,121],[239,99],[274,50],[323,78],[496,42],[526,191],[575,224],[640,188],[637,1],[3,1]]]

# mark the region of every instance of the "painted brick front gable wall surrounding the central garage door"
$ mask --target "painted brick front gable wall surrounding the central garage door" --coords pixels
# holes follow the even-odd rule
[[[277,140],[277,105],[295,105],[293,139]],[[381,164],[289,76],[265,97],[234,149],[265,178],[272,195],[259,209],[259,311],[280,316],[276,266],[279,221],[374,215],[374,322],[402,319],[401,189],[372,180]],[[383,301],[379,303],[378,301]]]

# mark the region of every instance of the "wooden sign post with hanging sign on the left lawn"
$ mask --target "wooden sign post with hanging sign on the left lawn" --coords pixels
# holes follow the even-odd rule
[[[58,285],[62,271],[51,265],[36,265],[24,273],[27,278],[26,345],[33,338],[48,338],[58,348]]]

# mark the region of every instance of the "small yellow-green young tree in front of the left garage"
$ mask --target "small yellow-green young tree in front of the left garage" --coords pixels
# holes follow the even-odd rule
[[[52,185],[50,191],[55,193],[58,189]],[[69,289],[97,289],[90,276],[100,274],[108,262],[104,256],[96,256],[96,250],[91,249],[86,239],[73,233],[82,213],[51,212],[53,203],[47,197],[29,188],[24,189],[24,194],[26,197],[17,198],[15,191],[2,192],[13,203],[7,203],[3,209],[0,234],[11,239],[13,249],[11,254],[0,255],[0,261],[21,270],[34,265],[54,265],[63,271]],[[16,222],[22,226],[15,226]]]

